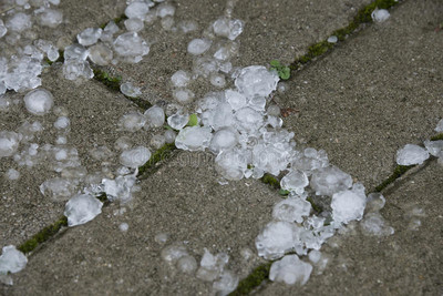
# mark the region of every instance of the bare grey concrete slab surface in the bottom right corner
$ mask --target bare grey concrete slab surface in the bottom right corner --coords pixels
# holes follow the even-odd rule
[[[394,227],[388,237],[359,227],[326,246],[329,266],[302,287],[268,284],[257,295],[441,295],[443,292],[443,167],[434,160],[385,194],[383,217]],[[424,215],[413,215],[422,208]],[[414,229],[414,220],[421,226]],[[415,224],[416,225],[416,224]]]

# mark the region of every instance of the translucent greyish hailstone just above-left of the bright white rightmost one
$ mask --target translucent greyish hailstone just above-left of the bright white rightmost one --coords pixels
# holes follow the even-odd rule
[[[337,166],[328,166],[312,174],[310,185],[318,195],[332,196],[339,191],[351,187],[352,177]]]

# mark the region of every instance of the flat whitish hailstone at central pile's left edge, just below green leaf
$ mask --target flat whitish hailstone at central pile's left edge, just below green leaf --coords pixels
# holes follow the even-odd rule
[[[213,134],[210,127],[188,126],[179,131],[175,146],[188,151],[204,151],[209,146]]]

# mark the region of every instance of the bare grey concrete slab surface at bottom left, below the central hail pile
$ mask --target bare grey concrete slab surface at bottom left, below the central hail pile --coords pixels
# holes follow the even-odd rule
[[[206,153],[181,152],[141,183],[134,203],[103,208],[87,225],[73,227],[48,243],[14,276],[11,295],[24,294],[152,294],[208,295],[195,274],[183,275],[168,266],[161,252],[181,243],[197,262],[204,247],[213,254],[226,252],[227,268],[246,276],[260,261],[254,239],[269,221],[270,208],[281,197],[259,181],[219,185],[214,160]],[[128,231],[119,229],[121,223]],[[155,235],[166,233],[162,245]],[[241,259],[243,248],[253,257]]]

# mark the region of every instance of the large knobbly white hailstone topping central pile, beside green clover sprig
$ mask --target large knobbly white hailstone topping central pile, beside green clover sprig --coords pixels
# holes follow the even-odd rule
[[[237,89],[246,96],[268,96],[277,89],[279,81],[275,71],[268,71],[262,65],[250,65],[241,69],[235,81]]]

